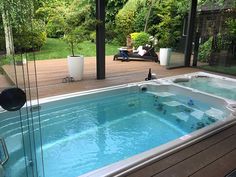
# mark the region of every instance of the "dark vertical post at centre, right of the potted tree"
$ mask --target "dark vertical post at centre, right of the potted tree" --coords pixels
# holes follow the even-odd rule
[[[105,1],[96,0],[97,79],[105,79]]]

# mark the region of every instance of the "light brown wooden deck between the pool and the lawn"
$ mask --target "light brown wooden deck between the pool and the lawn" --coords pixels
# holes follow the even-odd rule
[[[5,65],[3,68],[10,80],[16,84],[14,67]],[[152,61],[121,62],[120,60],[113,61],[113,57],[108,56],[106,57],[106,79],[97,80],[96,59],[88,57],[85,58],[83,80],[74,83],[62,83],[62,79],[68,76],[66,59],[40,60],[36,62],[39,97],[143,81],[147,77],[149,68],[152,68],[152,72],[156,73],[158,78],[199,71],[199,69],[194,68],[167,70]],[[18,85],[22,88],[24,88],[24,85],[26,88],[30,87],[32,97],[36,96],[34,62],[28,62],[28,67],[27,65],[16,66],[16,72]],[[27,73],[29,73],[29,77]]]

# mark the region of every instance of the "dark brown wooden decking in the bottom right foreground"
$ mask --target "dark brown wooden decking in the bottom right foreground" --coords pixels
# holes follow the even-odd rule
[[[133,170],[126,177],[221,177],[209,173],[226,175],[236,168],[236,125],[201,140],[180,151],[158,159],[144,167]],[[229,154],[231,154],[229,156]],[[224,163],[214,169],[214,165]],[[232,164],[233,163],[233,164]],[[209,169],[208,169],[209,168]],[[223,175],[223,176],[224,176]],[[222,176],[222,177],[223,177]]]

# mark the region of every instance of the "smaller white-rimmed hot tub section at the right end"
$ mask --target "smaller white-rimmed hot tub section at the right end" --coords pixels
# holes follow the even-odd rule
[[[196,72],[162,80],[236,101],[236,79]]]

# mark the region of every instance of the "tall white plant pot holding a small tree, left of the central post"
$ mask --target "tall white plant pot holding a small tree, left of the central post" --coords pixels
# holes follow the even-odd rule
[[[82,80],[84,73],[84,57],[68,56],[67,62],[70,77],[73,77],[75,81]]]

